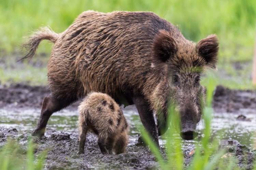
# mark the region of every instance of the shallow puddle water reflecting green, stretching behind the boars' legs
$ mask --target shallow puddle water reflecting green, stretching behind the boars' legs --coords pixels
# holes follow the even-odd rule
[[[130,125],[130,143],[134,145],[138,139],[138,129],[136,124],[140,123],[139,115],[134,106],[128,106],[124,110],[124,115]],[[241,121],[236,118],[239,115],[245,115],[250,121]],[[1,108],[0,109],[0,126],[14,127],[18,131],[32,131],[36,125],[40,115],[38,108]],[[78,133],[76,130],[76,122],[78,120],[78,112],[75,109],[64,109],[54,113],[47,128],[53,128],[58,131],[67,133]],[[231,113],[214,113],[212,120],[212,139],[233,139],[238,140],[240,144],[247,145],[251,149],[255,148],[253,143],[256,141],[256,117],[254,111],[250,109],[241,109],[240,114]],[[203,129],[203,123],[198,126],[198,137],[194,140],[182,140],[181,146],[183,150],[195,148],[195,144],[200,145],[200,139]],[[46,134],[47,135],[47,129]],[[176,136],[180,138],[179,136]],[[165,139],[160,137],[160,145],[165,144]]]

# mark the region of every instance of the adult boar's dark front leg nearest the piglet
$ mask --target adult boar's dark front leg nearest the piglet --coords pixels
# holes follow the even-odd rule
[[[153,111],[150,109],[150,106],[142,96],[133,97],[132,101],[137,107],[143,126],[151,135],[156,145],[159,147],[158,132]]]

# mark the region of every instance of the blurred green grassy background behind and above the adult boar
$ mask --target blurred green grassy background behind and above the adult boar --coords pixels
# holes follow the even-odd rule
[[[193,41],[217,34],[220,43],[218,71],[209,71],[215,84],[254,88],[251,70],[254,54],[255,0],[0,0],[0,81],[47,84],[47,61],[53,44],[43,41],[31,61],[20,45],[32,31],[49,26],[65,31],[83,11],[152,11],[178,26]],[[203,82],[206,81],[203,80]]]

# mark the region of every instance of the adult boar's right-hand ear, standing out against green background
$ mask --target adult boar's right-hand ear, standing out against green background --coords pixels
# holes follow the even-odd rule
[[[207,66],[216,69],[217,55],[219,50],[218,38],[216,35],[209,35],[197,43],[198,54],[207,62]]]

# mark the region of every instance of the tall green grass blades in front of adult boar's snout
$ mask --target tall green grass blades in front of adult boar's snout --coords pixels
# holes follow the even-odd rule
[[[170,113],[170,112],[169,112]],[[171,114],[169,114],[171,115]],[[171,118],[175,119],[176,118]],[[201,138],[200,145],[196,145],[196,149],[193,153],[193,158],[191,163],[188,166],[184,164],[184,154],[182,152],[180,143],[181,138],[179,134],[176,132],[175,129],[169,128],[165,134],[166,139],[166,157],[163,157],[155,143],[151,139],[150,135],[145,133],[142,126],[139,127],[142,136],[146,143],[149,143],[149,147],[152,153],[156,156],[156,159],[159,163],[161,169],[223,169],[224,167],[228,166],[228,169],[238,169],[236,162],[233,160],[229,160],[228,163],[224,162],[224,159],[221,157],[226,153],[225,149],[218,148],[218,141],[210,141],[211,136],[211,128],[210,122],[212,119],[212,109],[207,107],[204,112],[204,126],[205,129],[202,134],[203,137]],[[170,120],[169,120],[170,121]],[[228,159],[233,159],[229,157]],[[228,164],[228,165],[227,165]]]

